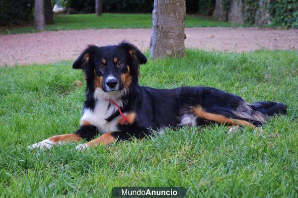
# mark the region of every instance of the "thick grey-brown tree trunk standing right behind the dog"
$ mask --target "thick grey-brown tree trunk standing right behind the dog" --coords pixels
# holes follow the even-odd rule
[[[150,58],[184,55],[185,0],[154,0]]]

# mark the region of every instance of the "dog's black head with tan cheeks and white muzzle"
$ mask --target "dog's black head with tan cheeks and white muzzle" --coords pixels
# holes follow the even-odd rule
[[[73,68],[85,72],[87,84],[104,92],[121,91],[138,83],[139,65],[146,56],[133,44],[98,47],[89,45],[74,61]]]

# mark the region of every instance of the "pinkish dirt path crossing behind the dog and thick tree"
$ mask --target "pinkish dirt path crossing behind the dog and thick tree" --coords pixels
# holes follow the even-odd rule
[[[298,30],[259,28],[186,28],[187,48],[207,51],[298,49]],[[53,63],[75,59],[87,44],[111,45],[126,39],[149,48],[151,29],[101,29],[0,35],[0,66]]]

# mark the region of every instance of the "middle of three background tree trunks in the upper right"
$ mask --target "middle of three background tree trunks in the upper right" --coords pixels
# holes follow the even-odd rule
[[[228,21],[244,24],[245,2],[243,0],[231,0],[230,10],[228,12]]]

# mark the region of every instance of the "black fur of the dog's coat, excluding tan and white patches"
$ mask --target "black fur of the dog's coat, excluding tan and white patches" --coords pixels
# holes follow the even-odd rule
[[[88,54],[88,61],[86,61]],[[255,114],[259,117],[269,117],[275,114],[285,114],[287,106],[276,102],[256,102],[246,103],[241,97],[215,89],[211,87],[179,87],[174,89],[154,89],[139,86],[139,65],[145,64],[145,55],[134,45],[122,42],[115,46],[88,46],[88,48],[74,62],[73,68],[81,68],[86,76],[86,100],[85,107],[94,109],[96,100],[94,98],[94,78],[102,76],[105,80],[105,72],[113,75],[128,72],[124,67],[116,67],[109,62],[112,56],[117,55],[118,59],[124,61],[124,67],[129,66],[131,84],[127,88],[126,94],[121,96],[124,113],[135,112],[136,118],[132,124],[118,124],[119,132],[112,132],[118,139],[129,139],[131,136],[144,137],[152,134],[152,130],[160,130],[166,127],[179,127],[183,116],[196,116],[194,108],[202,107],[204,112],[212,115],[221,115],[228,119],[247,121],[256,127],[261,127],[264,123],[262,119],[253,119]],[[98,68],[102,58],[107,60],[104,69]],[[105,81],[103,81],[104,83]],[[120,82],[119,82],[120,83]],[[103,85],[104,86],[104,85]],[[119,90],[123,89],[120,87]],[[104,90],[104,89],[103,89]],[[108,92],[107,92],[108,93]],[[113,104],[109,104],[107,108]],[[245,114],[244,114],[245,113]],[[115,111],[106,122],[119,119],[119,111]],[[247,115],[241,116],[241,115]],[[206,125],[212,120],[202,117],[195,117],[196,125]],[[221,122],[223,123],[223,122]],[[98,129],[94,126],[82,126],[76,134],[91,139]]]

